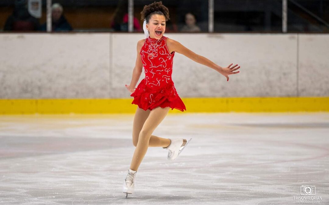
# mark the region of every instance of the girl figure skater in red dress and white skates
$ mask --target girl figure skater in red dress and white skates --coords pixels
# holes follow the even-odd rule
[[[133,145],[136,147],[130,169],[124,179],[123,192],[133,194],[134,180],[138,167],[146,154],[148,147],[162,147],[168,150],[167,159],[174,160],[187,146],[191,139],[166,139],[152,135],[155,128],[164,119],[169,109],[174,108],[184,112],[185,105],[179,97],[171,79],[172,62],[175,52],[181,53],[193,61],[208,66],[229,80],[228,75],[236,74],[240,68],[233,64],[222,68],[209,59],[198,55],[179,42],[164,36],[169,11],[162,2],[154,2],[144,6],[141,11],[144,20],[146,38],[137,43],[137,59],[130,85],[125,85],[138,105],[133,121]],[[145,78],[135,88],[142,69]]]

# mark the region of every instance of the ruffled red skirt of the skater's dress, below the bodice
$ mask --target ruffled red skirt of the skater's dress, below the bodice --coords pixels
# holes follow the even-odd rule
[[[186,107],[174,87],[174,83],[169,81],[167,85],[158,89],[151,89],[145,85],[145,78],[141,80],[135,92],[130,96],[134,97],[131,104],[138,105],[143,110],[153,110],[160,106],[162,108],[170,107],[184,112]]]

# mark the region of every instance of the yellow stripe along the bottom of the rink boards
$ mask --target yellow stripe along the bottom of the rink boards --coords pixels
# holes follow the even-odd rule
[[[182,98],[187,112],[329,111],[329,97]],[[0,99],[0,114],[135,113],[132,99]]]

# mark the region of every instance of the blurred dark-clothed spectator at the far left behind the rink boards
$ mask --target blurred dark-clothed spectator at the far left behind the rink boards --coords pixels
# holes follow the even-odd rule
[[[39,20],[27,9],[27,0],[15,0],[13,13],[7,18],[4,31],[37,31]]]

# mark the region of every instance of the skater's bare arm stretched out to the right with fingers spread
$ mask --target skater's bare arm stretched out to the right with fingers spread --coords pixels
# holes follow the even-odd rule
[[[235,68],[236,66],[238,66],[238,64],[233,67],[230,67],[233,65],[233,63],[230,64],[228,67],[220,67],[219,65],[215,64],[208,58],[194,53],[193,51],[191,51],[190,49],[186,48],[181,43],[179,43],[178,41],[175,41],[173,39],[167,38],[166,44],[167,44],[168,49],[170,48],[171,52],[173,52],[173,51],[178,52],[178,53],[183,54],[186,57],[192,59],[193,61],[195,61],[197,63],[200,63],[202,65],[205,65],[205,66],[208,66],[209,68],[214,69],[215,71],[224,75],[227,78],[227,81],[229,80],[228,75],[236,74],[236,73],[240,72],[240,71],[232,72],[232,71],[238,70],[240,68],[240,66],[238,68]]]

